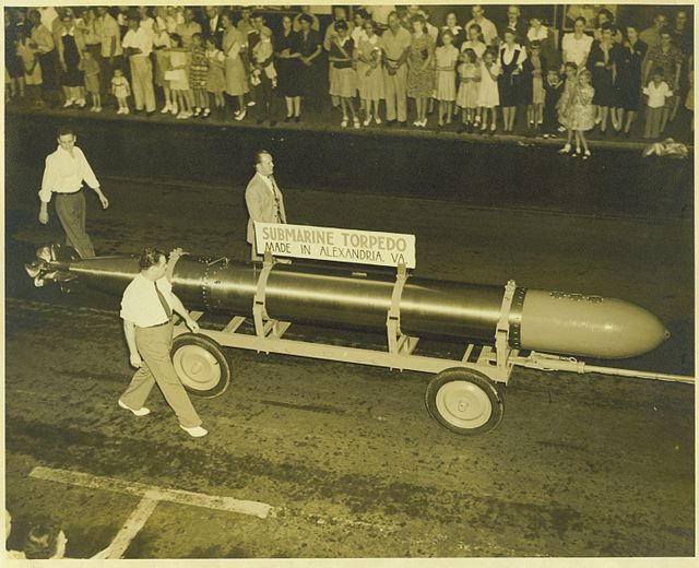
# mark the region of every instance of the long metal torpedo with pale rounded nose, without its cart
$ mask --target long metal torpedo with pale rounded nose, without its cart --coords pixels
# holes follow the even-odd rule
[[[26,265],[37,285],[80,280],[120,296],[138,273],[135,257],[80,259],[58,246]],[[250,316],[262,264],[185,255],[173,265],[173,291],[190,309]],[[384,331],[395,274],[325,264],[274,264],[266,274],[270,318],[340,329]],[[400,296],[406,335],[493,343],[503,286],[410,276]],[[670,334],[651,312],[602,296],[517,287],[507,312],[512,348],[625,358],[647,353]]]

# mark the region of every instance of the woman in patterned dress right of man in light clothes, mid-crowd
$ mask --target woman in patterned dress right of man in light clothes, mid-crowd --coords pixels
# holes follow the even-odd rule
[[[417,118],[413,126],[427,126],[427,98],[435,88],[435,40],[426,33],[425,19],[412,21],[413,35],[407,56],[407,96],[415,99]]]

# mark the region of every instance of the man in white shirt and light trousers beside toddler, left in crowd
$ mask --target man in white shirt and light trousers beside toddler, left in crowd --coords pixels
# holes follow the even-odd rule
[[[137,17],[129,19],[129,31],[123,36],[121,46],[131,64],[131,87],[135,102],[135,111],[145,110],[149,116],[155,113],[155,91],[153,88],[153,35],[139,25]]]

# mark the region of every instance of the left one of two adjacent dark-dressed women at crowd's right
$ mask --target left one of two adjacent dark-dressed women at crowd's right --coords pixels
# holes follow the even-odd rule
[[[616,80],[616,60],[618,58],[618,45],[614,43],[614,29],[612,24],[602,24],[601,39],[592,44],[590,56],[588,57],[588,69],[592,72],[592,84],[594,85],[594,100],[597,105],[597,118],[600,131],[606,134],[609,107],[614,104],[614,82]],[[619,130],[618,125],[612,121],[614,128]]]

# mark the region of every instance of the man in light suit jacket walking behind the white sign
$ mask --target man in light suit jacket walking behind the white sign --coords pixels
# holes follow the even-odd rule
[[[272,154],[266,150],[260,150],[256,154],[254,169],[257,174],[248,182],[245,190],[245,202],[248,206],[248,242],[252,245],[250,259],[261,261],[262,257],[256,252],[254,225],[256,221],[262,223],[286,223],[284,198],[282,191],[274,181],[274,162]]]

